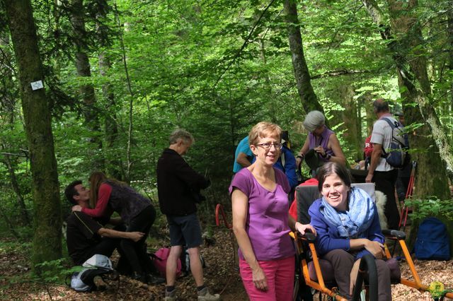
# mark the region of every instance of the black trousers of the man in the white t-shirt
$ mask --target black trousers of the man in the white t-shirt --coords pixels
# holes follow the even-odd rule
[[[398,170],[388,172],[374,171],[372,182],[376,184],[376,190],[382,191],[387,196],[384,214],[387,218],[389,229],[398,230],[399,211],[395,199],[395,183],[398,178]]]

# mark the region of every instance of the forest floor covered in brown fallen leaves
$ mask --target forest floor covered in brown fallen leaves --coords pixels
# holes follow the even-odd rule
[[[213,293],[221,293],[222,300],[248,300],[234,263],[231,238],[229,230],[214,229],[215,244],[202,249],[206,284]],[[32,281],[28,251],[20,246],[4,241],[0,244],[0,300],[164,300],[164,285],[142,285],[123,276],[110,283],[113,289],[93,293],[76,293],[66,285]],[[453,261],[415,261],[415,268],[426,285],[441,281],[446,288],[453,288]],[[410,278],[406,263],[401,264],[401,270],[403,277]],[[196,300],[190,275],[178,279],[177,289],[178,300]],[[401,284],[392,285],[392,296],[394,300],[432,300],[429,293]]]

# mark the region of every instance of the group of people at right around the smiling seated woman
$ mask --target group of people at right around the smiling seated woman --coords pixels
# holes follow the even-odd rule
[[[374,182],[376,189],[386,195],[384,215],[389,228],[397,229],[395,183],[398,170],[386,162],[382,153],[389,148],[393,136],[392,127],[385,119],[398,121],[386,101],[377,99],[373,107],[378,119],[370,138],[373,150],[365,182]],[[302,185],[317,185],[321,193],[321,198],[309,208],[309,225],[297,221],[297,201],[288,208],[294,199],[294,187],[289,184],[292,178],[288,176],[289,168],[276,164],[287,147],[280,126],[260,122],[236,148],[237,164],[229,193],[233,230],[239,244],[241,278],[251,300],[292,300],[294,247],[288,233],[294,230],[316,235],[316,250],[322,259],[331,263],[340,295],[348,299],[360,259],[372,254],[377,266],[378,299],[391,300],[391,273],[383,260],[385,239],[377,207],[365,191],[351,187],[345,155],[325,120],[321,112],[309,112],[304,120],[309,132],[304,146],[292,160],[285,152],[285,161],[294,161],[296,168],[306,161],[312,178]]]

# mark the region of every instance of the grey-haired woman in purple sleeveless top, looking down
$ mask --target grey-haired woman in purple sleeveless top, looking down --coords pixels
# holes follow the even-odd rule
[[[309,131],[309,135],[296,157],[297,166],[302,163],[304,156],[310,150],[316,152],[321,163],[336,162],[345,165],[346,158],[341,150],[340,141],[325,123],[326,117],[319,111],[311,111],[306,114],[304,128]]]

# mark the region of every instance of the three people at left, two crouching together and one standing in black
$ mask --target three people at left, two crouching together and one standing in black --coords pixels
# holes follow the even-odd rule
[[[209,187],[211,182],[195,172],[182,157],[194,141],[188,131],[173,131],[169,146],[157,163],[159,207],[170,230],[166,279],[153,274],[153,263],[145,244],[156,218],[154,206],[148,198],[123,182],[109,179],[103,172],[91,174],[90,189],[76,180],[64,191],[74,205],[67,219],[67,247],[74,264],[84,264],[95,254],[110,257],[117,249],[120,253],[118,272],[143,283],[166,282],[165,300],[176,300],[178,259],[185,247],[197,285],[197,299],[219,300],[219,294],[210,293],[204,282],[200,261],[202,232],[196,214],[200,190]],[[113,212],[120,218],[111,218]],[[108,228],[105,226],[108,223],[115,227]]]

